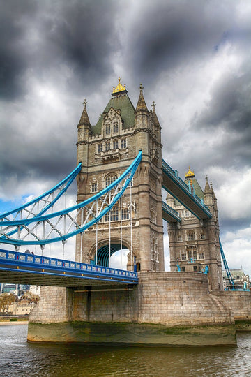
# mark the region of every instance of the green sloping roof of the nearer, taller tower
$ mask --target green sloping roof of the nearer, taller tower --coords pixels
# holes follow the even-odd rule
[[[123,94],[113,95],[112,98],[107,103],[105,110],[102,112],[96,126],[91,127],[91,132],[93,135],[98,135],[101,133],[102,120],[105,117],[105,114],[109,111],[110,108],[114,110],[121,110],[121,117],[123,120],[123,128],[133,127],[135,124],[135,107],[132,105],[130,98],[125,91]]]

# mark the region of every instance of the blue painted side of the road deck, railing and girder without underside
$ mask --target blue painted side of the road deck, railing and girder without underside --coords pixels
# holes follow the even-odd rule
[[[137,272],[0,249],[0,270],[137,284]],[[15,281],[14,281],[15,283]]]

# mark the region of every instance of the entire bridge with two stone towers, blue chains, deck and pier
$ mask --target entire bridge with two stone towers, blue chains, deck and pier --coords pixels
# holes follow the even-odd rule
[[[227,325],[244,312],[251,318],[250,296],[240,313],[236,306],[228,310],[228,299],[221,295],[224,254],[213,186],[206,179],[203,190],[190,168],[183,181],[162,159],[155,103],[147,108],[143,89],[141,84],[134,107],[119,80],[93,126],[84,101],[77,124],[77,168],[44,195],[0,215],[0,243],[15,246],[13,252],[0,251],[0,279],[30,279],[44,286],[30,316],[33,325],[75,320],[116,326]],[[75,178],[77,205],[61,209],[60,200]],[[170,272],[165,272],[163,219]],[[46,256],[47,244],[62,242],[64,250],[73,236],[74,261]],[[20,253],[20,246],[31,244],[41,246],[42,256]],[[112,254],[123,249],[128,249],[127,269],[110,267]],[[107,293],[99,295],[103,285]],[[55,310],[48,311],[48,300]],[[34,341],[39,332],[30,326],[28,338]],[[82,341],[92,339],[81,334]],[[42,338],[50,341],[50,335]]]

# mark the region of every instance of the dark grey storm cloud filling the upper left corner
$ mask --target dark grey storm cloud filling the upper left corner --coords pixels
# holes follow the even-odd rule
[[[95,84],[111,71],[109,54],[118,40],[111,27],[117,3],[107,1],[2,1],[0,95],[25,91],[22,76],[47,75],[61,64],[75,82]],[[69,87],[73,83],[69,83]]]

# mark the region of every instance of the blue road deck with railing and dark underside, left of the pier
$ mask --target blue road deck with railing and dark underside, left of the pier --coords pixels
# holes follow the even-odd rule
[[[137,272],[0,249],[1,283],[80,287],[137,284]]]

